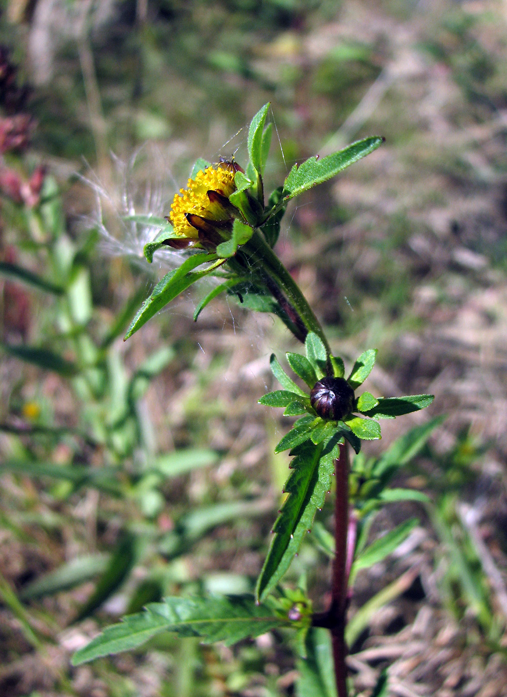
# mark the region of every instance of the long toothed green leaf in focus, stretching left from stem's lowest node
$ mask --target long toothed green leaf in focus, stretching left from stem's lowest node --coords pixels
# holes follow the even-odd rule
[[[270,608],[256,604],[252,596],[169,597],[149,604],[142,613],[128,615],[119,625],[107,627],[74,654],[72,663],[78,666],[100,656],[128,651],[162,631],[198,636],[205,643],[223,641],[231,645],[284,625],[286,620],[275,616]]]

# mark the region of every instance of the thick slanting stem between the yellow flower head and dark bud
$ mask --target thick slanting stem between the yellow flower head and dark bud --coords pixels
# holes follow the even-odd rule
[[[278,256],[276,256],[262,237],[262,233],[255,230],[250,240],[248,240],[248,243],[243,245],[241,251],[247,256],[250,266],[261,270],[262,274],[269,279],[268,286],[271,286],[271,293],[273,293],[273,286],[271,284],[275,284],[287,298],[293,310],[291,314],[294,315],[295,313],[295,315],[291,316],[291,314],[289,314],[291,312],[290,310],[287,312],[287,305],[284,309],[287,314],[289,314],[290,319],[298,327],[298,330],[301,328],[301,332],[299,332],[300,335],[296,335],[296,337],[300,339],[300,341],[304,341],[304,337],[308,332],[315,332],[324,343],[324,346],[326,346],[327,355],[331,355],[331,348],[319,320],[315,316],[310,305],[308,305],[308,301],[305,296],[303,296],[303,293],[301,293],[298,284],[296,284],[280,259],[278,259]],[[276,299],[279,300],[279,298]]]

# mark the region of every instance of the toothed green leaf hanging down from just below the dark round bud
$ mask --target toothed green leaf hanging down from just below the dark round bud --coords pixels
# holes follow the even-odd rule
[[[331,440],[324,445],[304,443],[294,451],[292,473],[285,484],[289,496],[273,526],[273,541],[257,581],[259,599],[266,597],[285,574],[312,527],[317,509],[324,505],[337,450]]]

